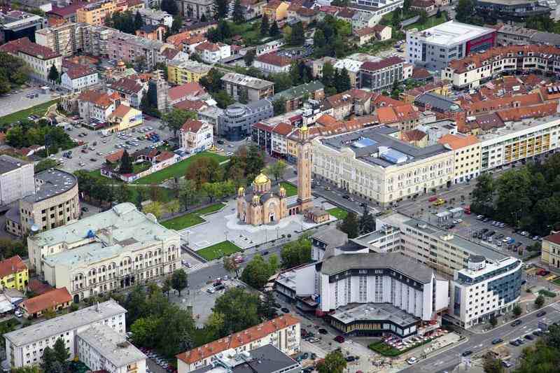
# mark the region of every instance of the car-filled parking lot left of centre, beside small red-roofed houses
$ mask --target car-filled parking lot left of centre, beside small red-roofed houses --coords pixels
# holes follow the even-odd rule
[[[130,153],[134,150],[139,150],[146,148],[146,146],[152,146],[153,142],[144,139],[138,140],[137,136],[146,134],[146,132],[139,132],[139,130],[144,128],[151,128],[149,132],[155,132],[160,136],[160,140],[167,140],[172,137],[172,132],[161,124],[159,120],[145,120],[143,125],[139,125],[133,129],[120,132],[118,134],[109,134],[109,136],[102,136],[98,131],[93,131],[85,127],[71,127],[66,126],[66,133],[68,133],[73,139],[78,141],[83,141],[87,144],[87,153],[82,152],[82,147],[77,147],[72,149],[71,158],[62,157],[62,153],[59,152],[55,155],[57,159],[64,161],[62,168],[66,171],[76,171],[78,169],[94,170],[99,169],[103,162],[105,162],[105,157],[111,153],[116,152],[118,144],[125,144],[126,141],[135,141],[138,146],[129,146]],[[83,134],[83,136],[78,136]],[[123,134],[127,134],[125,138]],[[97,143],[93,145],[93,143]],[[93,150],[91,150],[93,148]]]

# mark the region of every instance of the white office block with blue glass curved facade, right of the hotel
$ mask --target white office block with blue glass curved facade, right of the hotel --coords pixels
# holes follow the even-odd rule
[[[468,329],[511,311],[521,294],[522,264],[512,257],[487,261],[482,255],[470,256],[449,284],[451,321]]]

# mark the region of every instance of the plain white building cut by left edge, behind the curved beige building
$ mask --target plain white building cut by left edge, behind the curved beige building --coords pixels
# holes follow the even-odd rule
[[[33,175],[33,162],[0,155],[0,206],[33,194]]]

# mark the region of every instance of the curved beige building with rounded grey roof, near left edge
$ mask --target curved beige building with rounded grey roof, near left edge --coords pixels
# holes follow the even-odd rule
[[[80,217],[78,178],[59,169],[35,175],[33,194],[20,199],[6,213],[6,230],[22,236],[33,230],[50,230]]]

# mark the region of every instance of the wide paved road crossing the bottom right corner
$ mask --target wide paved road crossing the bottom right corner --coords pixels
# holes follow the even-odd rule
[[[542,310],[547,311],[546,316],[542,317],[542,320],[552,322],[560,321],[560,304],[559,302],[549,304],[547,307],[542,307]],[[473,351],[473,355],[476,356],[484,350],[490,349],[492,347],[492,340],[496,338],[502,338],[504,343],[507,344],[508,348],[517,351],[521,350],[526,345],[519,347],[514,347],[508,344],[512,339],[517,339],[523,337],[524,335],[533,332],[537,329],[538,318],[535,316],[536,312],[528,314],[520,318],[523,323],[517,327],[512,327],[511,323],[506,323],[491,332],[486,334],[477,335],[468,333],[468,341],[455,346],[449,350],[445,350],[443,353],[435,355],[433,357],[427,358],[426,360],[421,360],[419,363],[407,367],[401,372],[405,373],[418,373],[418,372],[444,372],[451,371],[453,368],[461,363],[461,353],[463,351]]]

